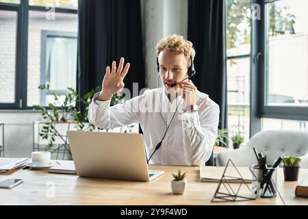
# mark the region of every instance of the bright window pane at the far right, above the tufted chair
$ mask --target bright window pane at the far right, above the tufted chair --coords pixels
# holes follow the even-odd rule
[[[266,105],[308,106],[307,0],[266,5]]]

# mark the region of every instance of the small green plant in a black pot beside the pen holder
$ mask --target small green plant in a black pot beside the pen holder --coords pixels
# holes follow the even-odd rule
[[[300,157],[293,155],[283,157],[283,175],[285,176],[285,181],[297,181],[300,161]]]

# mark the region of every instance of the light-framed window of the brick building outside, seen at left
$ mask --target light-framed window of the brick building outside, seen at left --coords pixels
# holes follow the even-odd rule
[[[48,83],[50,89],[40,92],[40,105],[54,101],[53,93],[63,99],[67,88],[76,88],[77,36],[64,31],[44,31],[41,66],[40,81]]]

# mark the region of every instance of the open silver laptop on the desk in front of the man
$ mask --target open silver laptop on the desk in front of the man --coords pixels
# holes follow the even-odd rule
[[[151,181],[164,173],[148,169],[142,134],[67,131],[67,136],[80,177]]]

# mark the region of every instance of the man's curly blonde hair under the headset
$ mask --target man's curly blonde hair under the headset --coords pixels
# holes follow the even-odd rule
[[[190,57],[194,60],[194,55],[196,55],[196,51],[194,51],[194,47],[192,47],[192,42],[185,40],[183,36],[178,34],[172,34],[160,40],[156,46],[156,55],[158,56],[164,49],[183,53],[188,60],[190,60]]]

